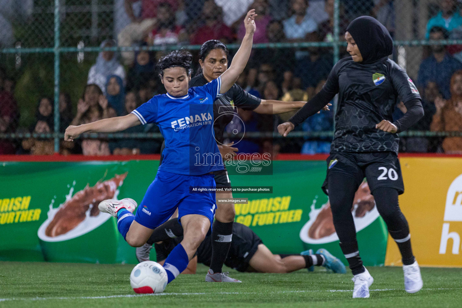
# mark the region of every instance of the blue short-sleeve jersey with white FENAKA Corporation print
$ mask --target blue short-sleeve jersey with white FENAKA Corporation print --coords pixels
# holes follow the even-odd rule
[[[162,94],[132,111],[141,124],[155,123],[165,139],[159,170],[182,175],[202,175],[223,170],[213,137],[213,102],[221,77],[206,85],[189,88],[183,97]]]

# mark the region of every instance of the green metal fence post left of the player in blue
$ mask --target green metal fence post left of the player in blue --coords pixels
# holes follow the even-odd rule
[[[55,153],[59,153],[59,60],[60,60],[60,0],[55,0]]]

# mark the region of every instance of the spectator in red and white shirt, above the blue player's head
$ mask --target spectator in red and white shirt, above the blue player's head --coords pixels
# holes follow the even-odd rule
[[[176,44],[188,40],[183,27],[176,25],[175,12],[168,2],[161,3],[157,9],[154,29],[149,34],[148,43],[151,45]]]

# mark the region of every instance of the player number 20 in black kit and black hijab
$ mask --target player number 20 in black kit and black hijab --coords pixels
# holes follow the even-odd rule
[[[353,298],[369,297],[369,286],[374,281],[359,256],[351,213],[354,194],[364,177],[377,210],[400,249],[405,290],[415,293],[423,282],[413,256],[409,226],[398,205],[404,184],[397,157],[397,133],[424,115],[421,99],[407,73],[388,59],[393,41],[376,19],[369,16],[354,19],[346,29],[345,38],[351,57],[339,60],[322,91],[278,130],[286,136],[320,110],[324,102],[339,94],[334,140],[322,189],[329,196],[340,248],[354,275]],[[406,105],[407,113],[393,122],[391,115],[400,100]]]

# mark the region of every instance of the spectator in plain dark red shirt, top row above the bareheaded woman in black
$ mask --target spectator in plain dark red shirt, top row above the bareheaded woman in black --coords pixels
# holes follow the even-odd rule
[[[202,9],[201,18],[205,23],[191,35],[191,44],[201,45],[209,40],[224,43],[233,41],[231,29],[223,23],[223,11],[213,0],[207,0]]]

